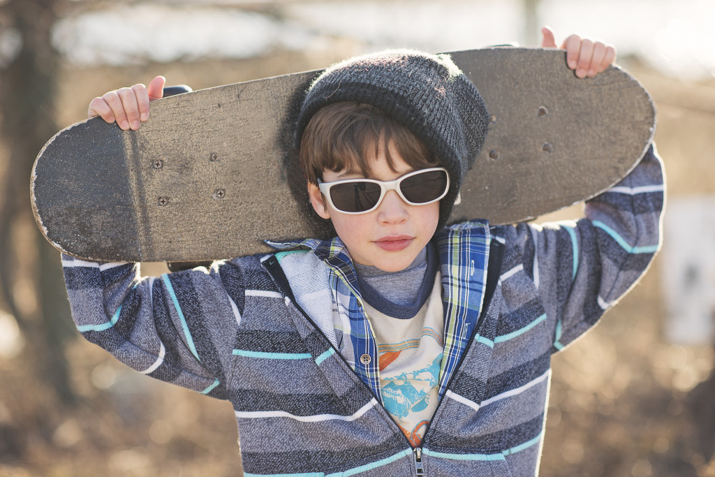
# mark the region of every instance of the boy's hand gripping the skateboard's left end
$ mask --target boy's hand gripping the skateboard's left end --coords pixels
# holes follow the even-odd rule
[[[101,116],[106,122],[117,121],[121,129],[136,131],[142,122],[149,119],[149,102],[164,94],[166,79],[158,76],[149,87],[134,84],[131,88],[120,88],[92,99],[87,109],[87,119]]]

